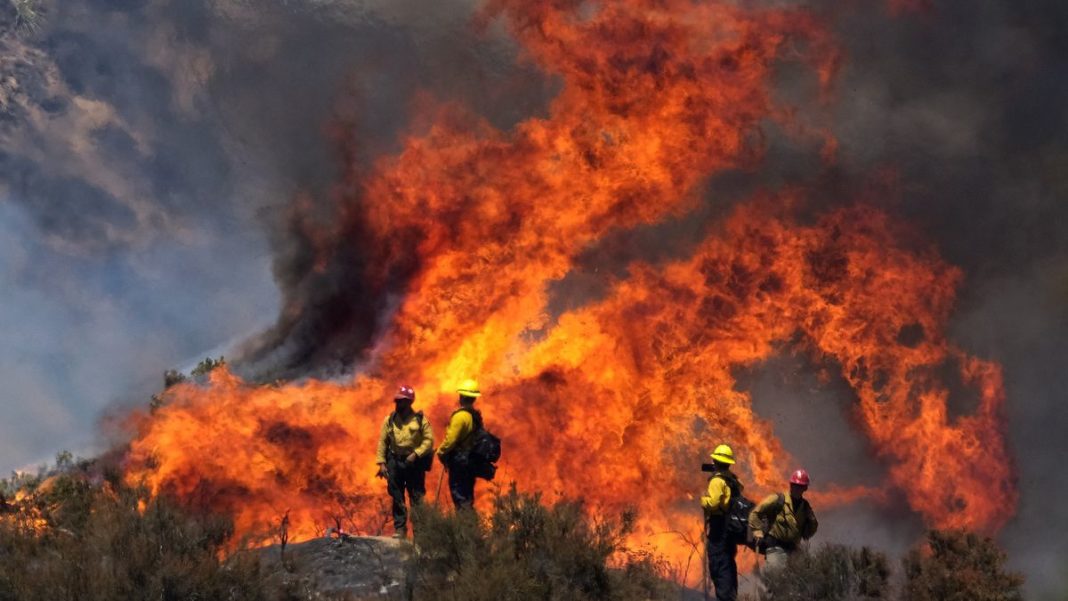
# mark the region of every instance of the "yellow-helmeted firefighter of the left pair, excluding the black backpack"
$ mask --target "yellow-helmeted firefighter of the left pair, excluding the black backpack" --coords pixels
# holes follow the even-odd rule
[[[457,389],[459,409],[453,411],[445,430],[445,441],[438,448],[438,457],[449,471],[449,494],[457,509],[474,505],[475,471],[468,461],[468,452],[474,433],[482,429],[482,413],[474,401],[482,396],[478,382],[465,380]]]

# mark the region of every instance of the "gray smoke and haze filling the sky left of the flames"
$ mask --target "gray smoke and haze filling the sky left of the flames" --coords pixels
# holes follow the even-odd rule
[[[38,5],[34,29],[0,1],[5,469],[256,332],[250,371],[350,367],[380,300],[344,260],[359,247],[308,282],[294,199],[329,220],[337,148],[394,151],[420,92],[501,127],[548,97],[464,3]]]

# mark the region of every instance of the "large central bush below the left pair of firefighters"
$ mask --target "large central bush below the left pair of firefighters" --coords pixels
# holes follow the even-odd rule
[[[624,543],[632,513],[592,521],[577,503],[541,505],[513,487],[486,519],[446,516],[424,505],[414,516],[408,586],[417,600],[595,600],[675,598],[663,566]]]

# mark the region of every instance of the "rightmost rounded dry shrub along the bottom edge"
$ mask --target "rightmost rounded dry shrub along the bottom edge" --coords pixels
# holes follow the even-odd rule
[[[906,601],[1018,601],[1023,576],[1005,571],[993,540],[963,531],[931,531],[902,562]]]

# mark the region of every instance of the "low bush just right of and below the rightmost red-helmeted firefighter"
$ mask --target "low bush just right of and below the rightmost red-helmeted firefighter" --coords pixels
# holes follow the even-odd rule
[[[890,562],[864,547],[824,544],[799,551],[787,567],[765,573],[761,601],[874,601],[891,599]]]

